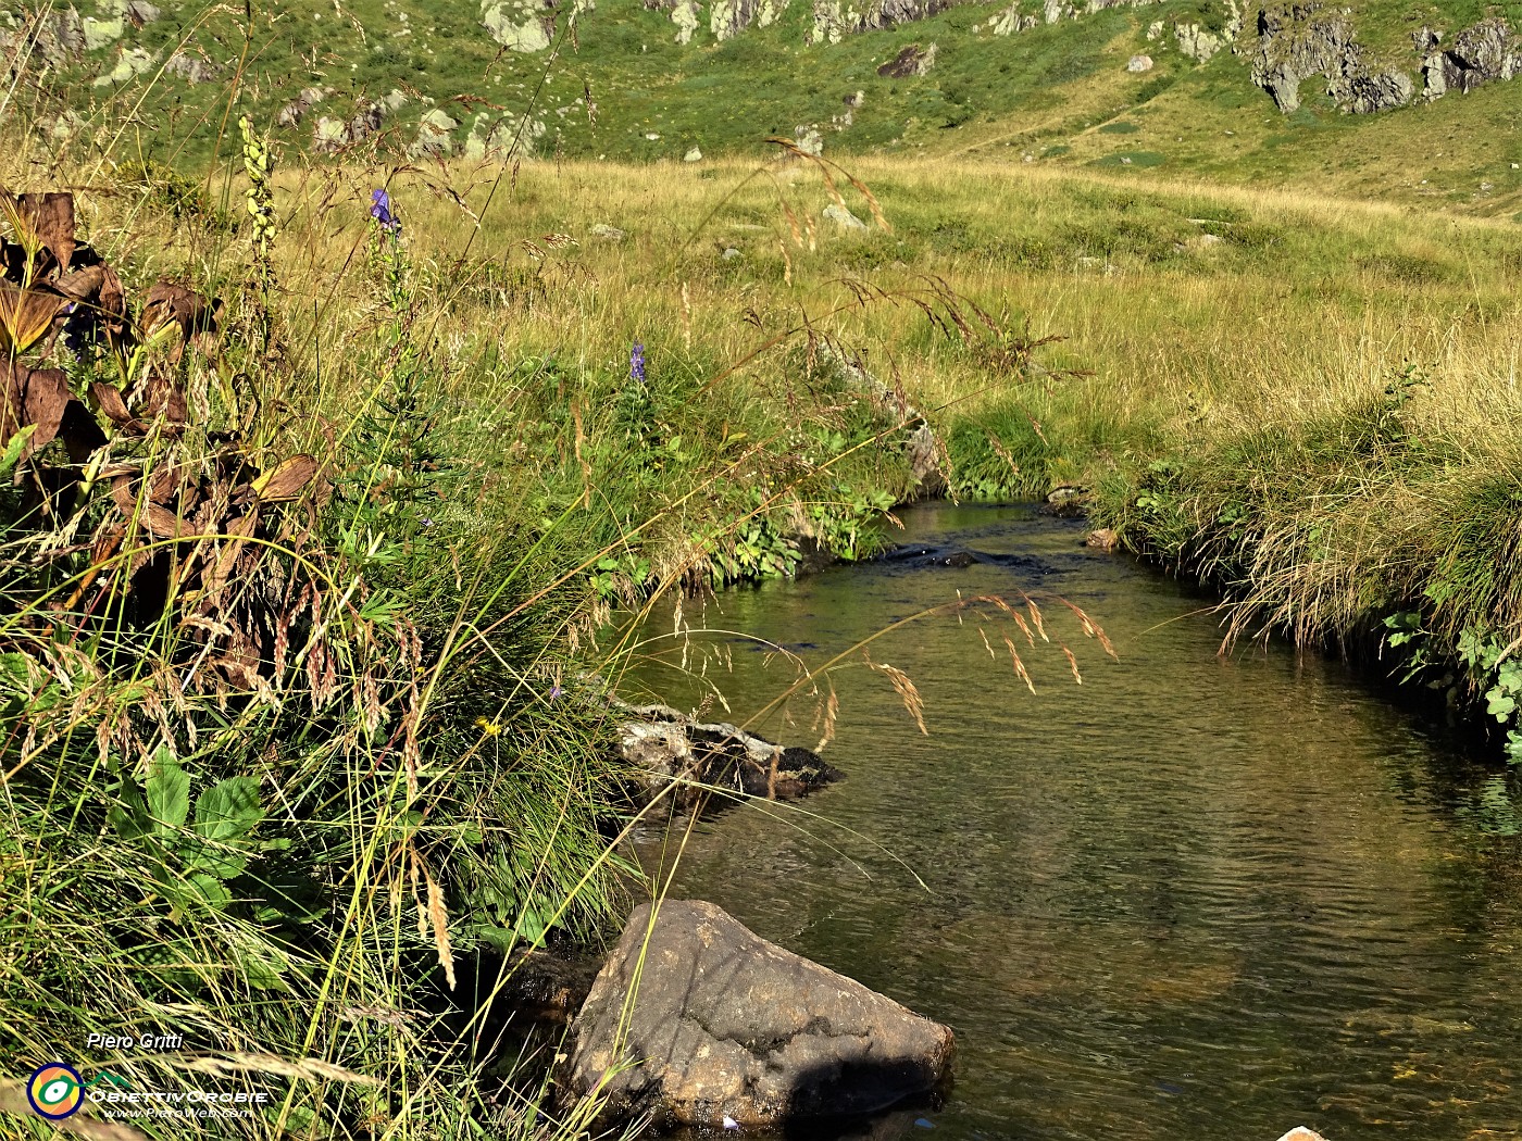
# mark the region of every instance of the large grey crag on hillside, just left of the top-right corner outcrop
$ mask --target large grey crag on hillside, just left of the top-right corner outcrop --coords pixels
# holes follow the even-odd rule
[[[1300,84],[1315,75],[1326,79],[1333,102],[1353,114],[1403,106],[1415,94],[1408,75],[1379,67],[1355,40],[1345,11],[1315,0],[1265,6],[1257,15],[1253,82],[1288,114],[1300,108]]]

